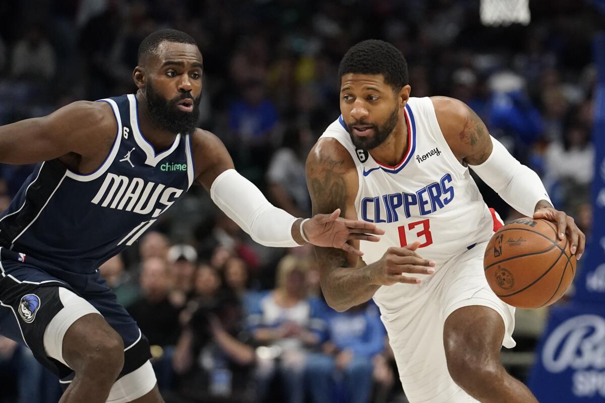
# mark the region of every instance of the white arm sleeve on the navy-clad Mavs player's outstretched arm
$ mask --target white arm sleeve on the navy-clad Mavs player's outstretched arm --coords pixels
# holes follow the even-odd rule
[[[229,218],[266,247],[298,247],[292,237],[296,217],[277,208],[258,188],[235,169],[227,169],[214,179],[210,197]]]

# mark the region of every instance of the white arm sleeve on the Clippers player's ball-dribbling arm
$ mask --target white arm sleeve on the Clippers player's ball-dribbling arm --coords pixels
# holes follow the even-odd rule
[[[497,192],[505,202],[528,217],[534,215],[540,200],[552,204],[551,198],[537,173],[522,165],[495,138],[494,149],[483,164],[469,166],[483,182]]]

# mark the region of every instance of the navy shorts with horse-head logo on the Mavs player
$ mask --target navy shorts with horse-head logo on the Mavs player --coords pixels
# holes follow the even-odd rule
[[[64,309],[59,289],[66,288],[88,301],[124,341],[124,366],[120,377],[151,358],[149,343],[136,321],[119,303],[99,271],[79,274],[47,265],[38,259],[0,248],[0,334],[30,347],[62,384],[73,379],[69,367],[47,356],[44,331]]]

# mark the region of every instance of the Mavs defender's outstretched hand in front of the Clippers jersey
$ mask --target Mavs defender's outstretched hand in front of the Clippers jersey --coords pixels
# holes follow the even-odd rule
[[[332,214],[315,214],[302,225],[302,230],[309,243],[317,247],[337,248],[362,256],[363,253],[347,241],[359,239],[378,242],[380,238],[374,235],[382,235],[384,230],[376,228],[371,222],[341,218],[340,211],[340,208],[336,208]]]

